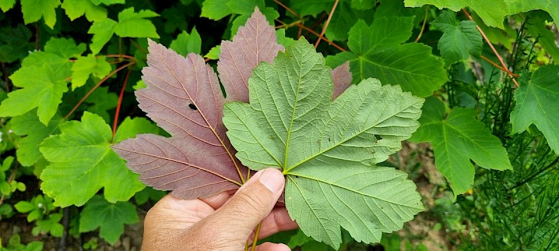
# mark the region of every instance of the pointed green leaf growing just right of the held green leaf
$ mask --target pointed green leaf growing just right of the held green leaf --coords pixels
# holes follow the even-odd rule
[[[473,160],[486,169],[512,170],[498,137],[477,121],[474,109],[455,107],[445,116],[444,104],[428,98],[423,105],[421,126],[411,142],[430,142],[435,150],[435,166],[451,182],[454,196],[474,183]]]

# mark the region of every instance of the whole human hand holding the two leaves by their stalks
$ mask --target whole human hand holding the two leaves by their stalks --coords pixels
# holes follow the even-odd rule
[[[264,169],[232,195],[184,200],[167,195],[147,212],[142,250],[245,250],[262,222],[259,238],[296,229],[285,207],[274,207],[285,179],[277,169]],[[256,250],[290,250],[284,244],[263,243]]]

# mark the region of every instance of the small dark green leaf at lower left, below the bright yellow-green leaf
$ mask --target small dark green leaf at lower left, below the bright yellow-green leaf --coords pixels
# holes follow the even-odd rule
[[[125,224],[138,222],[136,206],[129,201],[112,204],[101,195],[95,195],[87,201],[80,213],[80,233],[93,231],[99,227],[99,236],[111,245],[124,233]]]

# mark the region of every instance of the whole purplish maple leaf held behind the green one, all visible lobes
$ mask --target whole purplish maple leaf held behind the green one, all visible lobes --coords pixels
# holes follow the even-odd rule
[[[243,48],[240,50],[240,48]],[[275,30],[255,8],[233,41],[222,43],[218,72],[228,100],[248,101],[248,79],[261,61],[273,61],[282,45]],[[222,122],[225,98],[217,75],[198,54],[186,58],[149,42],[147,88],[136,91],[139,107],[172,136],[139,135],[112,146],[128,160],[140,180],[183,199],[210,197],[245,182],[248,169],[235,158]],[[242,59],[242,60],[239,60]],[[331,72],[337,93],[351,84],[349,66]]]

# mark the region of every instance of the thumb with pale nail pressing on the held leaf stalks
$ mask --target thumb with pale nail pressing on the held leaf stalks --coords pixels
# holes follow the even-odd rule
[[[282,195],[285,178],[277,169],[268,168],[254,174],[227,204],[213,215],[226,229],[235,229],[239,241],[247,241],[252,231],[275,206]],[[224,223],[225,222],[225,223]]]

